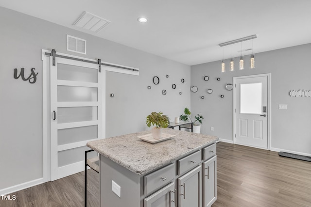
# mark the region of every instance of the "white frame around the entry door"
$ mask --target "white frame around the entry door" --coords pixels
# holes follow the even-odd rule
[[[237,79],[245,79],[245,78],[256,78],[266,76],[268,78],[268,104],[267,104],[267,121],[268,121],[268,150],[271,149],[271,73],[257,74],[257,75],[249,75],[249,76],[239,76],[233,77],[233,143],[236,143],[236,81]]]

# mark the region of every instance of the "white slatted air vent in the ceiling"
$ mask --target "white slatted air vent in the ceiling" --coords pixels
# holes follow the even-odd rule
[[[73,25],[92,32],[99,32],[109,23],[110,21],[102,17],[93,15],[88,12],[84,12]]]

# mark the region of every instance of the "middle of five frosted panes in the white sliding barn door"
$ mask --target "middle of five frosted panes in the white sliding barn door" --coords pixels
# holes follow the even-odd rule
[[[97,120],[97,106],[58,108],[58,124]]]

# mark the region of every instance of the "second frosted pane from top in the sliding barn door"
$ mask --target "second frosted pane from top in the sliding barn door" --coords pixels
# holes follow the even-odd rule
[[[97,88],[59,85],[57,101],[97,101]]]

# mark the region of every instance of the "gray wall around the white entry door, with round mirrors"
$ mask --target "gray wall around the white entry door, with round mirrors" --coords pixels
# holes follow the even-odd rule
[[[225,90],[225,85],[233,83],[233,77],[271,73],[271,147],[311,154],[311,98],[289,96],[291,90],[311,90],[310,57],[311,44],[307,44],[258,53],[255,69],[238,70],[236,65],[230,72],[228,61],[225,73],[221,73],[220,61],[192,65],[191,85],[199,90],[191,93],[191,112],[204,117],[201,133],[232,142],[233,91]],[[208,81],[203,80],[206,75]],[[208,88],[213,89],[210,95]],[[279,110],[278,104],[287,104],[288,109]]]

